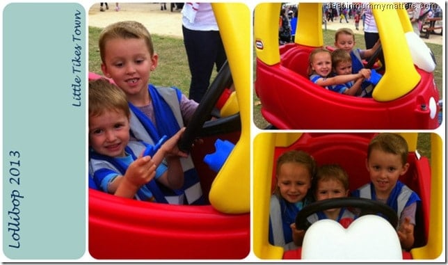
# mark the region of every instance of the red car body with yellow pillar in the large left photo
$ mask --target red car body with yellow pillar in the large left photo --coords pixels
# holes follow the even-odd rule
[[[209,204],[141,202],[89,188],[88,246],[95,259],[243,259],[250,251],[250,13],[241,3],[212,3],[212,8],[238,95],[227,102],[237,106],[231,114],[240,126],[207,134],[193,130],[204,140],[190,151]],[[206,125],[214,127],[232,115],[221,113]],[[234,144],[218,172],[203,161],[216,151],[216,139]]]

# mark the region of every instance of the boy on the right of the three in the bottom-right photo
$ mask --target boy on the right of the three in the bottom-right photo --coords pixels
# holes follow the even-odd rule
[[[409,250],[414,244],[415,213],[420,198],[399,181],[409,168],[408,143],[399,134],[378,134],[369,143],[366,167],[371,182],[351,195],[377,200],[394,209],[399,217],[397,233],[401,248]]]

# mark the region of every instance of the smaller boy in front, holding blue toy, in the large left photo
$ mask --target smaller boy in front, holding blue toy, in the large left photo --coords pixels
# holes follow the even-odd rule
[[[150,156],[141,141],[129,141],[130,111],[125,93],[106,79],[89,82],[89,175],[104,192],[168,203],[153,179],[170,189],[182,187],[184,174],[177,141],[184,128]],[[162,163],[166,160],[166,165]],[[172,201],[173,203],[173,201]]]

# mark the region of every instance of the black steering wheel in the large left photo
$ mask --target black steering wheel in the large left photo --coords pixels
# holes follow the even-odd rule
[[[179,150],[188,153],[195,138],[200,136],[210,136],[224,134],[231,131],[241,131],[241,118],[239,113],[225,118],[210,120],[211,113],[214,112],[215,105],[218,102],[219,97],[221,97],[221,94],[225,88],[230,87],[232,83],[232,73],[230,72],[228,62],[226,61],[221,67],[221,70],[219,70],[218,74],[216,74],[214,81],[211,82],[204,97],[202,97],[202,100],[198,105],[198,108],[193,113],[189,124],[186,125],[184,134],[182,134],[182,137],[177,143]]]

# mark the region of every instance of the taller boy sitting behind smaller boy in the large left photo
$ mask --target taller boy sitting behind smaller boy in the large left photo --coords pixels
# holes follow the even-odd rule
[[[145,143],[157,143],[163,135],[174,136],[188,124],[198,103],[174,87],[150,83],[159,56],[154,51],[150,33],[136,21],[122,21],[106,26],[99,34],[99,54],[104,76],[125,92],[131,109],[131,136]],[[182,157],[186,204],[205,204],[198,172],[191,156]]]

